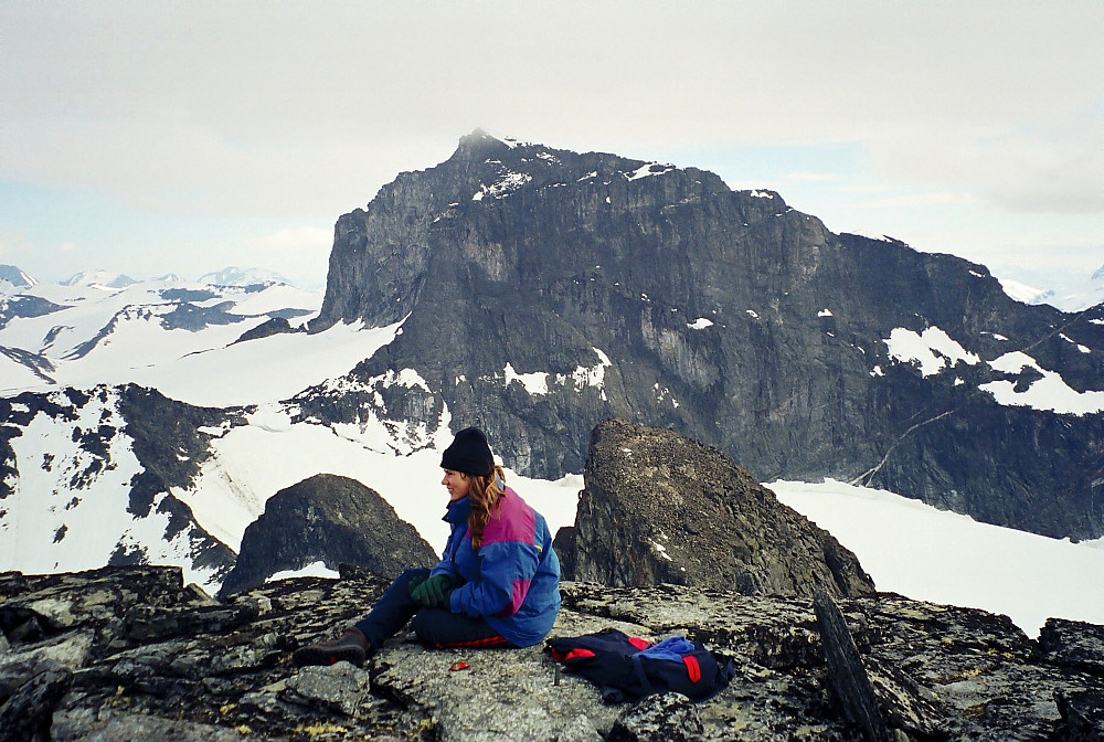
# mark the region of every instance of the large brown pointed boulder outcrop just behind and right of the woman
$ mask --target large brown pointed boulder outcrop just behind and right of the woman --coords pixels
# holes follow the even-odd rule
[[[744,595],[874,592],[859,560],[721,452],[622,420],[591,437],[575,526],[556,536],[570,579],[667,582]]]

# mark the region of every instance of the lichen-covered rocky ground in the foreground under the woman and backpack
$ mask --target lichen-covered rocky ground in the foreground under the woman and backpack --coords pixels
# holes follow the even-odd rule
[[[732,658],[731,685],[700,703],[604,704],[540,647],[431,651],[400,636],[362,669],[293,667],[291,650],[354,619],[386,584],[347,568],[219,602],[178,569],[0,574],[0,741],[863,739],[832,690],[811,598],[563,583],[554,634],[684,634]],[[892,739],[1104,733],[1104,627],[1051,619],[1036,642],[1004,616],[900,595],[838,606],[836,630],[850,635]]]

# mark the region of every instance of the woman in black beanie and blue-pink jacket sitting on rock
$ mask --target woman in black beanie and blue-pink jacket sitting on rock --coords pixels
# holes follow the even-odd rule
[[[440,467],[452,526],[444,558],[400,574],[340,638],[296,650],[296,665],[361,665],[411,617],[422,644],[438,649],[528,647],[552,629],[560,560],[544,517],[506,486],[478,428],[456,434]]]

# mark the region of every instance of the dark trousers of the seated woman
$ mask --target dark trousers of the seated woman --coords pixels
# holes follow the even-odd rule
[[[391,583],[371,613],[361,618],[353,628],[361,632],[373,647],[384,642],[414,618],[414,633],[418,642],[427,647],[493,647],[509,644],[482,618],[445,608],[426,608],[415,603],[410,594],[411,577],[429,576],[429,570],[406,570]]]

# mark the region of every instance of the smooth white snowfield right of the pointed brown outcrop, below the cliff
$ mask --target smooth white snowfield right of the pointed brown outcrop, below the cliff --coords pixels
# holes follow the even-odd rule
[[[880,591],[1004,614],[1031,637],[1049,617],[1104,624],[1104,540],[1059,541],[835,480],[766,486],[853,551]]]

